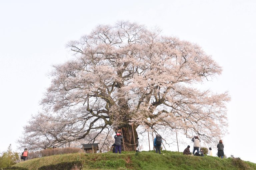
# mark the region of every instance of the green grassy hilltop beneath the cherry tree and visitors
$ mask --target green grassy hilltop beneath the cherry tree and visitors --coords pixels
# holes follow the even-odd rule
[[[138,155],[135,152],[62,154],[31,159],[14,166],[37,170],[44,165],[67,161],[82,161],[83,170],[256,170],[256,164],[239,158],[199,157],[171,151],[162,151],[161,155],[153,151],[142,151]]]

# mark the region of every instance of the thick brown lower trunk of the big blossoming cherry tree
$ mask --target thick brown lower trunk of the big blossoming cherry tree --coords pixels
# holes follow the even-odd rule
[[[137,126],[133,126],[133,131],[134,131],[134,136],[135,136],[135,143],[137,143],[138,139],[138,133],[136,131]],[[123,131],[123,139],[124,139],[124,145],[125,145],[125,151],[135,151],[138,144],[134,145],[134,138],[133,138],[133,133],[132,133],[132,126],[131,125],[126,125],[125,127],[122,127]],[[122,150],[123,148],[123,143],[122,143]]]

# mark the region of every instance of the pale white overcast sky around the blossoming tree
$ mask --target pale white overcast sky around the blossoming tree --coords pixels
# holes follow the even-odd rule
[[[65,44],[98,24],[129,20],[195,42],[223,67],[205,88],[232,98],[224,153],[256,163],[255,18],[254,0],[0,1],[0,151],[16,150],[50,85],[51,65],[72,57]]]

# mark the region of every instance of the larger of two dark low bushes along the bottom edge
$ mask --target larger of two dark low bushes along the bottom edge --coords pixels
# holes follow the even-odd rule
[[[83,165],[81,161],[73,161],[73,162],[61,162],[58,164],[51,164],[46,166],[41,166],[38,170],[71,170],[71,169],[81,170],[83,169]]]

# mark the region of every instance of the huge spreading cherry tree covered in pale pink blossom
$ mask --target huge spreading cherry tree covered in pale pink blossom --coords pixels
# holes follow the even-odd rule
[[[222,68],[197,44],[121,21],[99,25],[67,47],[74,58],[54,66],[44,113],[25,127],[42,147],[107,141],[122,129],[125,149],[133,150],[139,127],[177,129],[208,143],[226,133],[228,93],[198,88]]]

